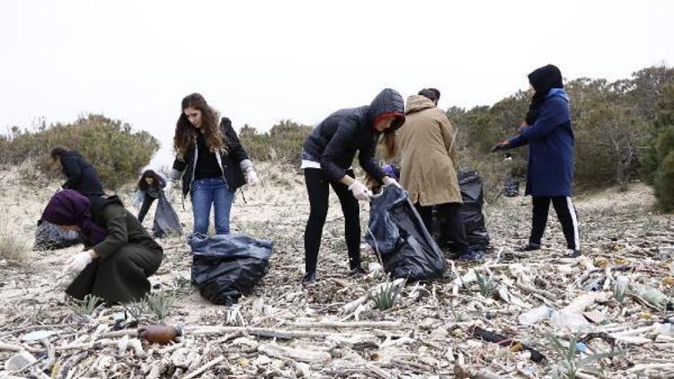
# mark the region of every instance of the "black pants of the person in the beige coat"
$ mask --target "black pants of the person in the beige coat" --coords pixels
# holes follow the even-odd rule
[[[468,251],[468,239],[466,238],[466,229],[461,221],[461,204],[445,203],[437,206],[422,207],[420,203],[414,204],[419,212],[423,225],[430,234],[433,232],[433,207],[437,209],[440,221],[440,243],[447,240],[454,242],[457,254],[463,254]]]

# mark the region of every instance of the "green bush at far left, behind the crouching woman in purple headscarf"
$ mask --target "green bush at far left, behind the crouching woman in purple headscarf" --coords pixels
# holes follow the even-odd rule
[[[34,159],[41,172],[58,175],[49,158],[56,146],[78,151],[92,163],[103,185],[116,189],[137,178],[159,149],[159,142],[146,131],[132,132],[120,120],[92,114],[71,124],[43,124],[34,131],[13,128],[9,136],[0,137],[0,162]]]

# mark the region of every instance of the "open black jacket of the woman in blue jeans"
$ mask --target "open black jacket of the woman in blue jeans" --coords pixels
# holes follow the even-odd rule
[[[232,128],[232,121],[226,117],[222,118],[220,121],[220,130],[226,138],[228,150],[227,152],[220,154],[223,165],[221,169],[229,190],[236,190],[245,184],[244,172],[241,170],[241,167],[239,167],[239,163],[249,159],[248,154],[245,152],[244,146],[241,145],[239,137],[236,136],[234,128]],[[182,196],[187,196],[187,194],[190,193],[190,186],[193,180],[192,175],[194,174],[195,169],[194,165],[196,164],[196,161],[194,160],[195,149],[196,145],[192,145],[187,150],[184,161],[178,158],[173,161],[173,170],[175,172],[182,172],[178,174],[182,177]]]

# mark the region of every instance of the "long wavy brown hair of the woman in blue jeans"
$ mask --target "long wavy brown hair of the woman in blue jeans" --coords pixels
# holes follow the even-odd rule
[[[173,150],[180,160],[185,159],[187,150],[197,141],[197,128],[192,126],[185,115],[188,108],[201,111],[201,129],[206,137],[208,148],[213,153],[226,151],[226,138],[220,131],[219,115],[211,108],[200,93],[191,93],[182,99],[181,115],[175,125]]]

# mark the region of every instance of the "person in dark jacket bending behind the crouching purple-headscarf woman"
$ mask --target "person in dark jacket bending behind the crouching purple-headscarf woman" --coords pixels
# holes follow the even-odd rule
[[[54,147],[51,159],[60,164],[67,181],[61,186],[64,190],[76,190],[86,197],[99,197],[104,194],[101,178],[91,164],[84,161],[76,151],[68,151],[64,147]]]

